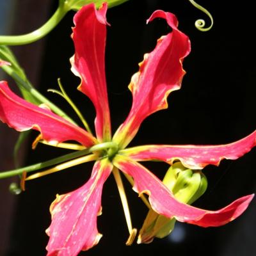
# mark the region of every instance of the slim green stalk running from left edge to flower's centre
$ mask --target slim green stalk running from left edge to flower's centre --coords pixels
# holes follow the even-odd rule
[[[28,172],[33,172],[33,171],[36,171],[36,170],[40,170],[42,168],[47,168],[47,167],[55,165],[55,164],[60,164],[60,163],[65,162],[65,161],[72,160],[72,159],[77,158],[77,157],[85,156],[87,154],[90,154],[90,153],[98,151],[98,150],[107,150],[108,148],[116,148],[116,147],[117,147],[117,145],[116,145],[115,142],[100,143],[100,144],[94,145],[90,148],[86,148],[84,150],[80,150],[80,151],[73,152],[73,153],[70,153],[70,154],[67,154],[67,155],[64,155],[64,156],[56,157],[56,158],[51,159],[49,161],[32,164],[32,165],[22,167],[22,168],[19,168],[19,169],[15,169],[15,170],[0,172],[0,179],[20,175],[23,172],[27,172],[27,173]]]

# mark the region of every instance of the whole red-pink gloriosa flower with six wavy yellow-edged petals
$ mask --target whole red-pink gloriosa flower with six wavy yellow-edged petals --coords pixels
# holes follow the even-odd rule
[[[99,10],[95,10],[93,4],[81,8],[74,17],[72,34],[75,45],[75,54],[71,58],[72,72],[81,78],[79,90],[95,106],[96,136],[47,108],[26,102],[15,95],[6,82],[0,83],[0,118],[17,131],[35,129],[40,132],[40,140],[47,143],[72,140],[87,148],[109,141],[116,145],[116,148],[107,150],[98,147],[93,154],[83,156],[79,163],[95,160],[90,179],[81,188],[57,196],[52,202],[52,223],[47,229],[50,237],[47,255],[51,256],[77,255],[99,242],[101,234],[97,230],[97,216],[101,211],[102,186],[111,172],[119,175],[118,170],[121,170],[127,177],[132,177],[133,189],[139,195],[148,195],[150,207],[156,214],[201,227],[216,227],[234,220],[253,198],[253,195],[243,196],[218,211],[198,209],[175,198],[170,188],[138,162],[158,160],[172,165],[174,161],[180,161],[185,169],[197,172],[207,164],[218,165],[221,159],[243,156],[255,146],[256,131],[227,145],[143,145],[126,148],[148,115],[168,107],[166,98],[170,92],[179,90],[185,74],[182,61],[189,54],[190,42],[188,36],[177,29],[178,22],[172,13],[157,10],[148,19],[148,22],[156,18],[166,20],[172,32],[159,38],[154,51],[145,54],[140,70],[132,76],[129,84],[133,97],[131,111],[111,136],[104,71],[106,11],[106,4]],[[130,227],[129,231],[133,236],[134,230]]]

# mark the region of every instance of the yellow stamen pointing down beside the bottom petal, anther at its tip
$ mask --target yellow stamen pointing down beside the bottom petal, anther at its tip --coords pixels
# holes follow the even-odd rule
[[[123,209],[124,209],[125,220],[126,220],[126,223],[127,223],[129,233],[130,233],[130,236],[127,239],[126,244],[131,245],[132,242],[134,241],[134,238],[136,237],[137,230],[136,230],[136,228],[132,228],[131,215],[130,215],[130,211],[129,211],[127,198],[126,198],[126,195],[125,195],[124,184],[122,182],[120,173],[119,173],[117,168],[113,168],[113,175],[114,175],[115,180],[116,180],[116,185],[117,185],[118,192],[119,192],[119,195],[120,195],[120,198],[121,198],[121,201],[122,201],[122,205],[123,205]]]

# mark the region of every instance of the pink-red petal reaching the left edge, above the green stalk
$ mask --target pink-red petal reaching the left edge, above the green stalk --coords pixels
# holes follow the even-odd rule
[[[0,120],[17,131],[40,131],[42,139],[55,143],[75,140],[89,147],[97,142],[76,125],[18,97],[4,81],[0,82]]]

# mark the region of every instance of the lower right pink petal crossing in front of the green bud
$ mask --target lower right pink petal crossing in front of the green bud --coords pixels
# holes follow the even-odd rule
[[[206,211],[177,201],[172,193],[154,174],[141,164],[124,156],[116,156],[114,165],[134,179],[134,190],[147,193],[152,209],[168,218],[173,216],[182,222],[201,227],[218,227],[242,214],[250,204],[253,195],[243,196],[218,211]]]

